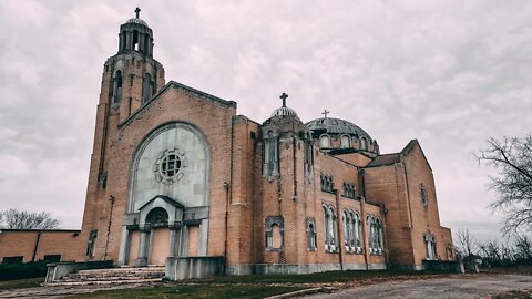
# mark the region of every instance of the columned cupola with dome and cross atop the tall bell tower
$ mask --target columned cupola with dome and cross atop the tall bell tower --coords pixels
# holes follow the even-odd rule
[[[131,18],[120,27],[119,54],[136,51],[144,56],[153,55],[153,32],[147,23],[140,19],[141,9],[135,9]]]

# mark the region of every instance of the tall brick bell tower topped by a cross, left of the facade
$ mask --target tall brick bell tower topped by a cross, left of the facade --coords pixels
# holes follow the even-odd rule
[[[140,12],[136,8],[135,18],[120,27],[119,51],[103,66],[81,233],[88,240],[85,259],[109,258],[114,196],[106,182],[113,175],[109,169],[119,125],[150,103],[165,84],[163,65],[153,59],[153,31],[140,19]]]

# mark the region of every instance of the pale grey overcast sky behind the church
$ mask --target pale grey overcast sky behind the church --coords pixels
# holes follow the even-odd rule
[[[417,138],[442,225],[499,236],[472,153],[532,127],[531,1],[0,0],[0,209],[80,228],[103,63],[137,4],[166,82],[260,123],[286,92],[301,121],[327,109],[382,153]]]

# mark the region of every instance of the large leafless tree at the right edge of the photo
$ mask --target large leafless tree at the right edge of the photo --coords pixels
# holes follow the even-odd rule
[[[497,192],[494,210],[504,214],[504,235],[520,235],[532,229],[532,135],[523,138],[488,140],[488,147],[475,153],[480,162],[494,166],[499,176],[491,177]]]

